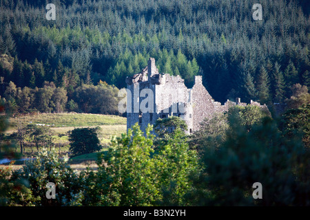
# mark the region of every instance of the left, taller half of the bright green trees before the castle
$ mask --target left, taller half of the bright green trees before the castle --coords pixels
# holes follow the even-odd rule
[[[96,179],[99,195],[97,205],[103,206],[151,206],[158,198],[154,159],[150,154],[152,135],[146,129],[145,136],[138,124],[127,135],[116,137],[106,154],[98,161]]]

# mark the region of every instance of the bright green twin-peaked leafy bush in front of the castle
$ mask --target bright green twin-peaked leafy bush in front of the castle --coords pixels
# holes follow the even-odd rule
[[[83,176],[85,204],[103,206],[185,205],[192,190],[190,175],[198,170],[195,151],[190,151],[180,131],[153,148],[154,135],[145,135],[138,124],[112,140],[99,158],[96,173]]]

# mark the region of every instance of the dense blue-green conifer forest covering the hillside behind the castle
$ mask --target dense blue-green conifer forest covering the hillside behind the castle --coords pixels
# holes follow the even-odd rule
[[[77,88],[101,80],[121,89],[150,56],[188,87],[202,74],[220,102],[278,103],[292,85],[310,85],[307,1],[260,1],[262,21],[252,19],[250,0],[53,2],[55,21],[45,18],[47,1],[0,1],[0,53],[8,55],[0,62],[0,95],[7,102],[17,102],[6,96],[10,81],[21,91],[48,81],[67,97],[64,111],[85,111],[74,99]]]

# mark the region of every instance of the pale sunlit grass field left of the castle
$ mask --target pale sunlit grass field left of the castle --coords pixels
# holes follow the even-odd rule
[[[112,136],[121,136],[122,133],[126,133],[126,118],[117,115],[100,115],[100,114],[87,114],[87,113],[40,113],[37,115],[24,115],[20,117],[10,118],[10,128],[6,133],[13,133],[17,131],[18,126],[27,126],[27,124],[44,124],[55,132],[55,148],[59,149],[59,153],[68,153],[68,131],[81,127],[94,127],[100,126],[99,140],[101,144],[105,146],[102,151],[106,151]],[[58,134],[65,134],[63,137],[58,137]],[[64,144],[64,146],[59,146]],[[17,148],[17,152],[18,152]],[[31,148],[25,149],[25,156],[35,156],[37,149]],[[98,153],[91,153],[87,155],[80,155],[78,157],[70,158],[70,166],[73,166],[76,170],[83,170],[90,164],[95,165],[95,160]],[[21,164],[14,166],[20,167]]]

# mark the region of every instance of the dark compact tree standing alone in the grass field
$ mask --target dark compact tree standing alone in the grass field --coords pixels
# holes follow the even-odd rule
[[[74,129],[69,133],[70,148],[74,155],[100,151],[102,146],[97,135],[99,128]]]

